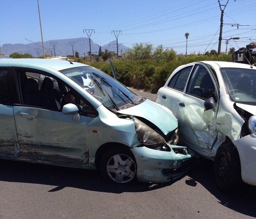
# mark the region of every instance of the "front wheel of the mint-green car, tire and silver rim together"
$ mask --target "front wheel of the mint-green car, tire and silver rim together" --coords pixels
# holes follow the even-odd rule
[[[137,165],[132,151],[114,147],[103,154],[100,162],[102,178],[112,183],[131,183],[136,180]]]

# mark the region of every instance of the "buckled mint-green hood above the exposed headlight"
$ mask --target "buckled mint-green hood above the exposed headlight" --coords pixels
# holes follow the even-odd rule
[[[165,135],[178,127],[177,119],[168,108],[148,99],[139,105],[118,112],[143,117],[154,123]]]

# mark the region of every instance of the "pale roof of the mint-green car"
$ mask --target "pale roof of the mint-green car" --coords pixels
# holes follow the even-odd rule
[[[0,59],[0,66],[5,67],[22,67],[22,68],[36,68],[36,66],[47,67],[57,71],[69,69],[79,66],[89,66],[78,62],[70,62],[57,59],[46,58],[3,58]]]

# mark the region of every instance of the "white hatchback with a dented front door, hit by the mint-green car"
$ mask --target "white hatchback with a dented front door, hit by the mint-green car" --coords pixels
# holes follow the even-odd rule
[[[256,68],[203,61],[179,66],[157,93],[179,122],[179,142],[214,160],[219,189],[256,186]],[[241,180],[242,178],[242,180]]]

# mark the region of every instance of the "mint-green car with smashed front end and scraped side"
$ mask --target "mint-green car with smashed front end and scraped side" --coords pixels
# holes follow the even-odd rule
[[[90,77],[93,95],[78,77]],[[175,145],[172,112],[98,69],[0,60],[0,86],[2,159],[99,170],[116,183],[169,182],[188,170],[193,153]]]

